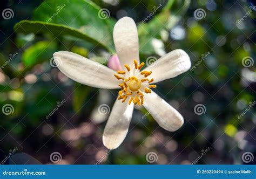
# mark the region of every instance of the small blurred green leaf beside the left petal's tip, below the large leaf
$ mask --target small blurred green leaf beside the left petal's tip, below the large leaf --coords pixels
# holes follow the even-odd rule
[[[56,49],[55,42],[42,41],[33,44],[22,54],[23,64],[25,67],[31,68],[43,61],[50,60]]]

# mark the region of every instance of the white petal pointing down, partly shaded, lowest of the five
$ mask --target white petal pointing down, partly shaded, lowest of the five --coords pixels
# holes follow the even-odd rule
[[[103,144],[108,149],[116,149],[124,141],[132,119],[133,104],[129,100],[116,100],[103,133]]]

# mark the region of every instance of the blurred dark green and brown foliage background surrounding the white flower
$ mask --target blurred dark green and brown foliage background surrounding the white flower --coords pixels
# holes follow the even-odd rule
[[[1,164],[256,163],[252,1],[2,3]],[[72,51],[107,65],[115,53],[113,25],[124,16],[137,23],[147,65],[174,49],[190,56],[189,71],[154,90],[185,122],[167,132],[139,108],[121,146],[107,150],[102,135],[117,91],[70,80],[52,54]]]

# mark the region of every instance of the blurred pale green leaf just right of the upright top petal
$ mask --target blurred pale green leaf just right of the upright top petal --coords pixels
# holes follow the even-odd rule
[[[153,39],[160,39],[162,30],[170,31],[184,15],[190,5],[190,0],[169,0],[160,13],[149,23],[144,21],[138,25],[140,52],[150,55],[155,53]],[[160,7],[158,7],[160,8]]]

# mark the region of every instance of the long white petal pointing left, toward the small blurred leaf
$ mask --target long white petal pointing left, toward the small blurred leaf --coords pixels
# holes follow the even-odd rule
[[[116,72],[96,61],[67,51],[55,52],[53,57],[59,70],[72,80],[97,88],[119,88]]]

